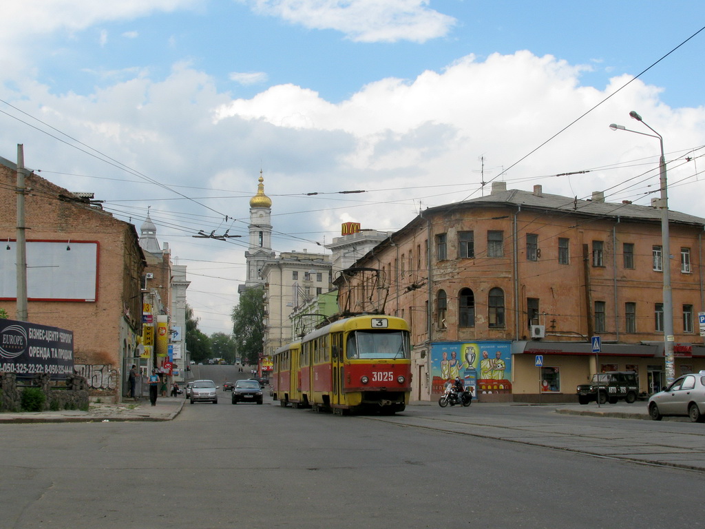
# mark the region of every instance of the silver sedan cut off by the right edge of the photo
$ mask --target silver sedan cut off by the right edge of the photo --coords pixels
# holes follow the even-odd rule
[[[663,391],[649,398],[649,417],[683,415],[692,422],[705,422],[705,371],[682,375]]]

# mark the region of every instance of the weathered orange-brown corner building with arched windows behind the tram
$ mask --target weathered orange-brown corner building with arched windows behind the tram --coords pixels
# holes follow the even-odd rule
[[[665,262],[676,374],[705,369],[705,219],[669,212],[670,261],[660,219],[656,207],[600,193],[577,200],[498,182],[485,197],[426,209],[380,243],[336,281],[338,304],[384,305],[409,322],[416,399],[460,376],[488,401],[572,401],[578,383],[613,369],[637,371],[651,393],[663,383]]]

